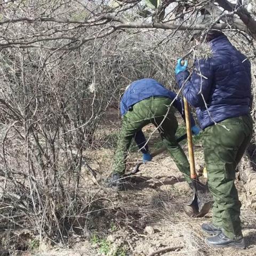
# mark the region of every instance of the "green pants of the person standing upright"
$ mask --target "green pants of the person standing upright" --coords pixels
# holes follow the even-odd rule
[[[226,119],[204,132],[205,164],[214,201],[212,222],[230,239],[243,237],[239,218],[241,202],[234,182],[237,164],[251,138],[250,115]]]

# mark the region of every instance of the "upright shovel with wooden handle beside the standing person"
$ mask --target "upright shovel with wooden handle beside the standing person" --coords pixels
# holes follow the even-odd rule
[[[209,212],[211,207],[211,202],[205,198],[202,198],[198,194],[199,182],[196,177],[195,168],[195,157],[193,151],[193,140],[191,133],[191,123],[190,123],[190,113],[188,102],[184,97],[185,104],[185,116],[186,116],[186,128],[188,136],[188,155],[189,155],[189,165],[190,165],[190,178],[192,180],[191,187],[193,190],[193,198],[190,203],[184,204],[183,209],[189,215],[189,217],[203,217],[207,212]],[[198,186],[198,187],[197,187]],[[202,188],[202,187],[201,187]],[[203,190],[201,190],[203,192]]]

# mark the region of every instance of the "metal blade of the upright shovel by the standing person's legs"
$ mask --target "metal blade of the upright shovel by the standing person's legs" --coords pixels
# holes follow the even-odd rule
[[[204,217],[211,208],[211,202],[205,198],[198,196],[196,181],[192,182],[193,198],[190,203],[183,205],[183,210],[189,217],[200,218]]]

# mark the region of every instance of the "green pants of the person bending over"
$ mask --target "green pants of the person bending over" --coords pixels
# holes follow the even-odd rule
[[[127,111],[123,117],[121,133],[114,156],[113,173],[123,174],[125,172],[127,150],[134,134],[140,131],[143,126],[152,123],[156,127],[160,125],[158,132],[164,146],[171,154],[178,169],[183,173],[186,181],[191,182],[188,159],[175,139],[178,122],[174,116],[174,108],[168,107],[171,102],[172,100],[169,98],[151,97],[136,103],[131,110]]]

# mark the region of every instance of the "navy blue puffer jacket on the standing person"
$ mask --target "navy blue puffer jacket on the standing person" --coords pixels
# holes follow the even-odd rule
[[[187,70],[176,75],[183,95],[196,107],[202,129],[250,111],[249,60],[224,35],[214,38],[210,45],[212,57],[197,60],[190,78]]]

